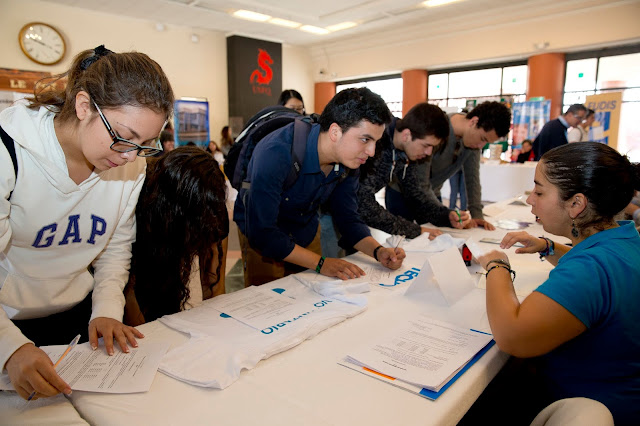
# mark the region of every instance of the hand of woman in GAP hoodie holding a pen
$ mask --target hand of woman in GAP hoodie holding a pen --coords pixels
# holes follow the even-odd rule
[[[49,356],[31,343],[20,346],[5,366],[13,387],[24,399],[33,392],[32,400],[60,392],[71,395],[71,387],[58,376]]]

